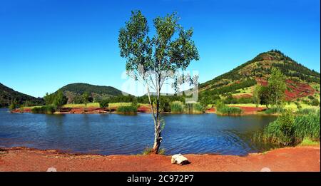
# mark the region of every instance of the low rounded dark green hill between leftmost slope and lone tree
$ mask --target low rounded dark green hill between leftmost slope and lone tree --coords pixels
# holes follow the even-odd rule
[[[78,97],[85,92],[89,93],[93,100],[123,95],[120,90],[112,86],[94,86],[88,83],[71,83],[59,90],[63,91],[63,94],[66,95],[68,103],[77,103]]]

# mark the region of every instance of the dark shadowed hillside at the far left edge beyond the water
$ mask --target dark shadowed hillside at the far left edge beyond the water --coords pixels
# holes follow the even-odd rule
[[[31,95],[19,93],[0,83],[0,108],[8,107],[11,104],[11,100],[16,100],[19,104],[24,104],[27,100],[31,105],[44,104],[44,99],[42,98],[35,98]]]

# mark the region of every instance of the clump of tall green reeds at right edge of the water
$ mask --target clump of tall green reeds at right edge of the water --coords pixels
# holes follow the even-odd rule
[[[320,110],[306,115],[285,111],[263,130],[262,139],[279,145],[297,145],[305,138],[320,141]]]

